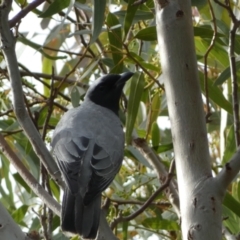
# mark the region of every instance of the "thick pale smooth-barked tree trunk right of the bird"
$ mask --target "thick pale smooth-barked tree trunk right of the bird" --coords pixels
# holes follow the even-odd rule
[[[211,174],[194,48],[191,1],[155,0],[184,240],[219,240],[225,188]]]

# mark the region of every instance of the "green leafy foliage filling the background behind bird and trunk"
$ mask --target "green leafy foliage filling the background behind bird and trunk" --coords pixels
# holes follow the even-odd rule
[[[15,0],[14,15],[30,2]],[[45,2],[43,8],[34,9],[22,19],[22,22],[31,21],[28,20],[31,14],[35,26],[28,31],[22,31],[22,23],[19,23],[16,50],[18,57],[24,58],[19,60],[19,69],[25,103],[40,134],[47,129],[47,135],[43,138],[51,149],[49,144],[54,127],[67,109],[81,104],[88,84],[108,72],[136,72],[131,83],[125,87],[121,104],[120,116],[128,144],[124,164],[103,194],[103,199],[109,198],[111,202],[108,221],[112,222],[119,215],[128,216],[141,208],[162,184],[146,157],[132,145],[132,133],[146,140],[148,146],[161,157],[166,169],[174,157],[157,51],[154,3],[152,0],[138,5],[133,5],[135,0],[112,0],[111,4],[102,0],[79,0],[71,8],[73,2],[54,0],[50,5]],[[211,111],[207,128],[212,168],[218,173],[236,150],[228,56],[231,19],[228,12],[216,3],[212,3],[213,12],[209,10],[207,1],[194,1],[193,4],[198,4],[192,7],[192,13],[204,107],[207,113],[209,100]],[[238,11],[237,6],[232,4]],[[45,39],[41,37],[40,29]],[[216,38],[212,49],[206,55],[214,34]],[[235,40],[234,51],[238,55],[239,33]],[[34,50],[31,55],[25,53],[29,49]],[[16,121],[11,106],[10,84],[2,55],[0,57],[1,134],[35,178],[60,201],[62,191],[44,171]],[[38,72],[32,70],[33,63],[38,65]],[[52,103],[49,98],[53,91]],[[24,231],[36,230],[46,237],[43,219],[48,217],[52,225],[52,239],[67,239],[58,228],[59,217],[49,217],[51,212],[32,193],[3,154],[0,181],[1,202]],[[232,234],[239,232],[239,209],[239,181],[236,179],[229,188],[223,206],[224,216],[228,217],[224,224]],[[131,221],[118,223],[114,231],[120,239],[148,239],[152,235],[155,239],[180,239],[180,227],[176,221],[177,215],[169,200],[164,194],[159,194],[143,213]]]

